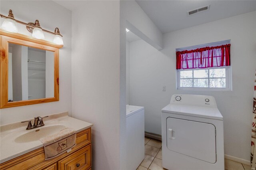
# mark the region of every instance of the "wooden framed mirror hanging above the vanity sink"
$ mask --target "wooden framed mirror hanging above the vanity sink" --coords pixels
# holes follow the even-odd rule
[[[0,109],[59,101],[62,46],[0,30]]]

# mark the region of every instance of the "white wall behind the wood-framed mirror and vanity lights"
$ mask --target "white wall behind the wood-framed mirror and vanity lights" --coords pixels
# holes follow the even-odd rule
[[[14,17],[24,22],[39,20],[42,28],[54,31],[60,28],[64,47],[60,49],[60,101],[21,107],[0,109],[0,124],[23,121],[36,116],[44,116],[68,111],[71,114],[71,11],[53,1],[5,1],[0,2],[1,14],[8,15],[12,9]],[[54,17],[56,16],[56,17]],[[4,19],[0,19],[0,24]],[[31,36],[24,25],[18,24],[18,32]],[[54,36],[44,33],[45,40],[53,41]]]

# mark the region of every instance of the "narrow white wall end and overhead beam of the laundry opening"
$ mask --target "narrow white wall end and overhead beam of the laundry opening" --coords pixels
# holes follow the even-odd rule
[[[162,49],[162,33],[135,0],[120,1],[120,169],[126,168],[126,28],[156,49]],[[129,89],[128,89],[129,90]]]

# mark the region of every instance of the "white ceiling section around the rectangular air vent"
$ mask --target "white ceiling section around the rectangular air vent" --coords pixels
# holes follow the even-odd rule
[[[256,0],[136,0],[136,2],[162,33],[256,10]],[[187,11],[209,4],[209,10],[187,16]]]

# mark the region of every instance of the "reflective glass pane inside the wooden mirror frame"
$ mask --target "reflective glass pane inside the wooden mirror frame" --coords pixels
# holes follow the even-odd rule
[[[8,43],[8,101],[54,97],[54,52]]]

